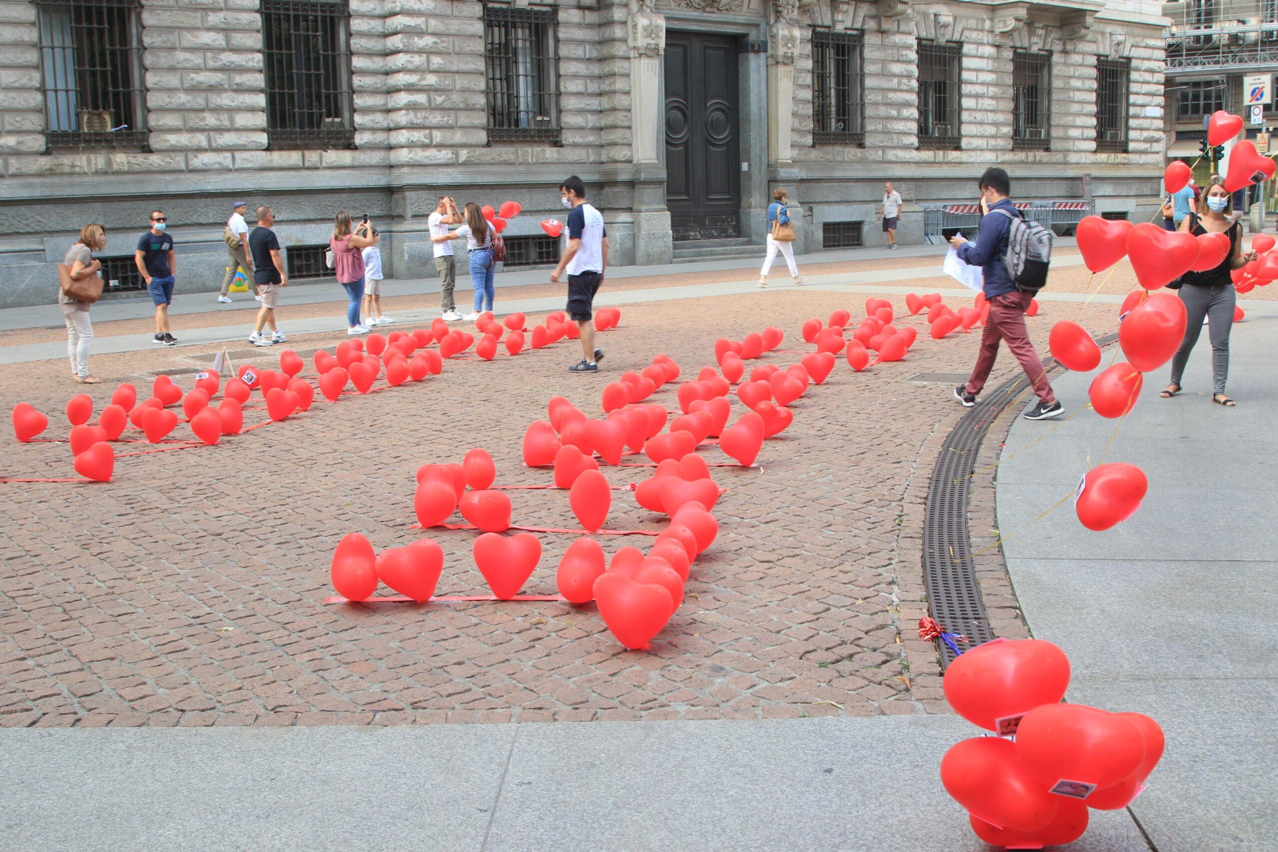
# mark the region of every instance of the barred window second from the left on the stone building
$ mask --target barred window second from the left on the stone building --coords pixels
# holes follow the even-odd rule
[[[262,0],[271,148],[354,148],[346,0]]]

